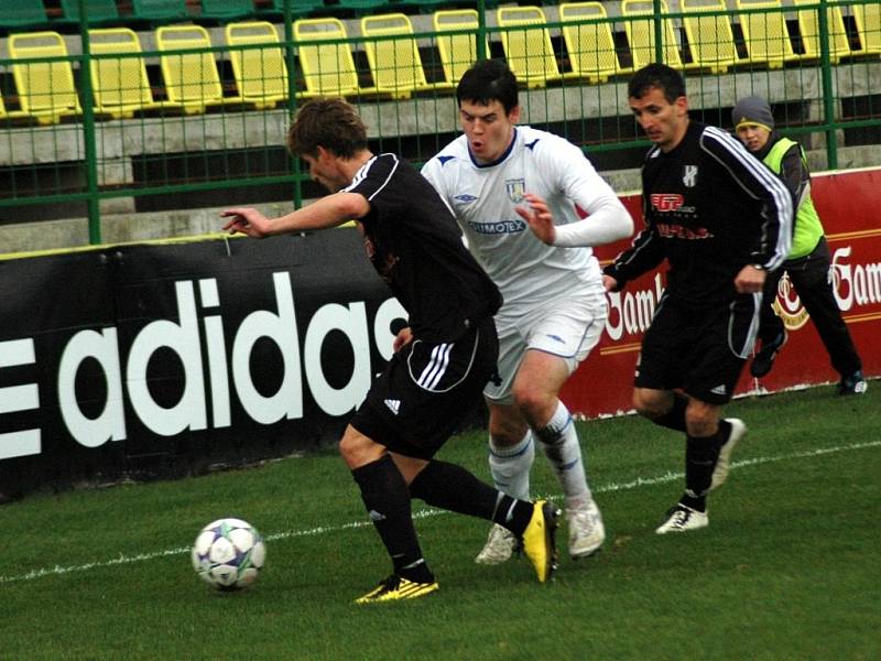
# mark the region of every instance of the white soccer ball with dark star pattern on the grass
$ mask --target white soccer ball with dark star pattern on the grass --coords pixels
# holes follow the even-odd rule
[[[214,587],[248,587],[267,561],[267,546],[257,529],[241,519],[218,519],[202,529],[193,544],[193,568]]]

